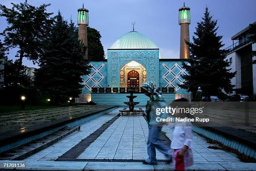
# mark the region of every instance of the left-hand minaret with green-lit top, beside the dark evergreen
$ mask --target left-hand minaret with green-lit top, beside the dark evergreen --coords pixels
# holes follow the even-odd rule
[[[81,40],[84,43],[84,46],[87,46],[87,26],[89,25],[88,12],[89,10],[84,8],[84,4],[82,8],[79,8],[77,15],[77,24],[78,24],[78,40]],[[87,49],[88,50],[88,49]],[[87,57],[87,50],[85,52],[84,58]]]

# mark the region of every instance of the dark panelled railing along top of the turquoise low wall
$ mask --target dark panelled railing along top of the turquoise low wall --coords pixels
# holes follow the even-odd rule
[[[130,93],[132,87],[92,87],[91,93]],[[144,93],[141,87],[133,87],[134,93]],[[158,87],[162,93],[175,93],[174,87]]]

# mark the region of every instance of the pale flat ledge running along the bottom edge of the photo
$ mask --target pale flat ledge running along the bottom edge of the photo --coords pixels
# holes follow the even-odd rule
[[[25,168],[4,168],[3,163],[24,163]],[[130,163],[130,162],[69,162],[69,161],[0,161],[1,170],[44,170],[44,171],[166,171],[173,170],[172,164],[159,163],[158,165],[145,165],[142,163]],[[256,169],[255,163],[195,163],[193,166],[187,168],[188,171],[192,170],[207,170],[207,171],[252,171]]]

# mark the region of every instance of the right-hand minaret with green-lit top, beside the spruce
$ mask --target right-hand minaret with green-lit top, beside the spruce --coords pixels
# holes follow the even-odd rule
[[[190,24],[190,8],[184,6],[179,8],[179,25],[180,25],[180,49],[179,58],[189,59],[189,50],[184,40],[189,41],[189,24]]]

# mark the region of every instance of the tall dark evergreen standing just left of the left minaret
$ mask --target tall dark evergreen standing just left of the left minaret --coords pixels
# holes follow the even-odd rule
[[[84,74],[90,73],[90,66],[83,57],[75,26],[63,20],[58,12],[49,38],[44,42],[44,52],[36,69],[36,86],[51,94],[55,103],[64,102],[68,97],[79,97]]]

